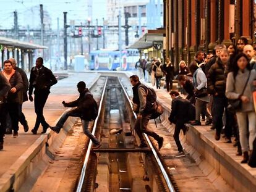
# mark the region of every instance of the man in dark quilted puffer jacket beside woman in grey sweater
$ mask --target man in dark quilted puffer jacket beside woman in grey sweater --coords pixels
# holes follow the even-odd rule
[[[222,49],[220,57],[216,63],[213,64],[208,72],[207,88],[208,93],[213,95],[213,127],[216,128],[215,140],[220,140],[221,130],[223,128],[222,116],[225,109],[226,125],[225,135],[228,143],[231,143],[232,136],[232,114],[228,111],[228,99],[225,96],[226,91],[226,77],[229,62],[229,52]]]

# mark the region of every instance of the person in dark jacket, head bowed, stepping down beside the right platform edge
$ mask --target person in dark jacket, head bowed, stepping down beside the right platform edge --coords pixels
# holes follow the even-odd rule
[[[179,133],[181,130],[183,130],[185,135],[187,131],[185,123],[189,121],[189,119],[186,119],[186,117],[189,117],[189,101],[187,99],[183,99],[177,91],[171,91],[170,95],[173,101],[171,102],[171,114],[169,115],[169,122],[171,124],[175,123],[173,138],[179,151],[177,156],[181,156],[184,155],[184,151],[181,141],[179,141]]]

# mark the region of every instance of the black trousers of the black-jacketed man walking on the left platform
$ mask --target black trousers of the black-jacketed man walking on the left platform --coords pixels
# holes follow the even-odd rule
[[[49,125],[48,123],[46,123],[45,117],[43,116],[43,107],[45,107],[45,103],[49,96],[49,92],[35,91],[34,94],[35,94],[34,105],[35,105],[35,113],[36,113],[36,122],[35,122],[35,127],[33,129],[37,131],[40,126],[40,123],[43,126],[43,129],[47,129]]]

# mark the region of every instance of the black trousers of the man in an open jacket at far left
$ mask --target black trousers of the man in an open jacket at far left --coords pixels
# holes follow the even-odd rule
[[[6,109],[11,117],[12,130],[16,132],[19,130],[19,102],[7,102]]]

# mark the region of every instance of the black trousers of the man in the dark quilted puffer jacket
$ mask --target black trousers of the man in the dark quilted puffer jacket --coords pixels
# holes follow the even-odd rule
[[[223,128],[222,116],[225,109],[226,125],[225,135],[229,139],[233,130],[233,115],[228,111],[228,99],[225,96],[213,96],[213,126],[216,128],[216,134],[220,135]]]

